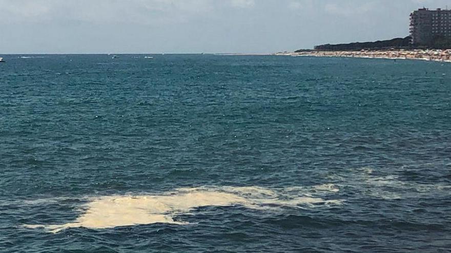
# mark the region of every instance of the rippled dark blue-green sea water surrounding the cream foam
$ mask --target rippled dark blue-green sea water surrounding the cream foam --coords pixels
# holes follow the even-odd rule
[[[1,252],[451,248],[449,64],[4,57]],[[176,196],[176,189],[196,187],[233,189],[244,198],[249,193],[236,189],[280,196],[259,208],[198,204],[173,215],[188,224],[57,233],[26,226],[74,222],[95,198]],[[299,197],[321,201],[288,203]]]

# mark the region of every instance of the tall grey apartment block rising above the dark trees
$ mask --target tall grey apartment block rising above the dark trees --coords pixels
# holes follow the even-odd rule
[[[411,13],[412,43],[428,45],[434,39],[451,38],[451,10],[418,9]]]

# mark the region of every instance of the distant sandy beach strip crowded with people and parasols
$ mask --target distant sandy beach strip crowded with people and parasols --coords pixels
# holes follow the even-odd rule
[[[283,52],[282,56],[355,57],[376,59],[409,59],[451,62],[451,50],[361,50],[361,51],[305,51]]]

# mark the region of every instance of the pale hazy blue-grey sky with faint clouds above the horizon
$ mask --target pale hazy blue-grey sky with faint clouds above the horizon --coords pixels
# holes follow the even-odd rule
[[[0,0],[0,54],[273,53],[405,37],[449,0]]]

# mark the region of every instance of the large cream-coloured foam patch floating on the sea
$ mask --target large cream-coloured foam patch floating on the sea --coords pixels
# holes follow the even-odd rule
[[[319,189],[335,189],[329,186]],[[111,228],[151,223],[187,224],[175,221],[180,214],[189,214],[201,206],[242,205],[249,209],[273,209],[282,206],[317,206],[341,204],[340,200],[298,194],[284,195],[283,190],[262,187],[200,187],[181,188],[161,195],[117,195],[91,199],[74,222],[51,225],[25,225],[28,228],[44,227],[49,232],[59,232],[70,227]]]

